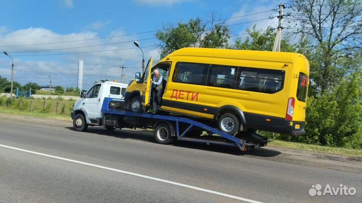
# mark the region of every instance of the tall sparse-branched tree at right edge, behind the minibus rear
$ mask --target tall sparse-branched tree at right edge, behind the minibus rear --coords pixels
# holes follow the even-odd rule
[[[312,93],[323,94],[337,86],[354,69],[341,66],[340,59],[354,60],[362,47],[361,0],[295,0],[291,22],[293,34],[302,34],[312,45]]]

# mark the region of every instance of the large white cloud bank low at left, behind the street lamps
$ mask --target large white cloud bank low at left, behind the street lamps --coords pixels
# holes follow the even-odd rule
[[[110,36],[120,36],[125,34],[123,31],[113,31]],[[44,28],[28,28],[9,32],[6,34],[0,33],[0,45],[27,45],[27,44],[42,44],[51,42],[63,41],[76,41],[83,39],[99,38],[97,33],[94,32],[80,32],[71,34],[58,34],[51,30]],[[127,80],[134,78],[135,72],[141,71],[142,52],[133,44],[133,40],[139,40],[140,36],[120,36],[117,38],[106,38],[101,40],[79,41],[71,43],[59,44],[45,44],[35,46],[21,46],[21,47],[0,47],[0,51],[7,51],[14,58],[15,74],[14,79],[21,84],[27,82],[37,82],[39,85],[47,85],[49,83],[48,75],[52,77],[54,85],[61,85],[64,87],[76,86],[77,81],[77,63],[78,60],[84,61],[84,75],[83,87],[90,87],[93,82],[101,79],[118,80],[121,79],[121,72],[119,66],[128,67],[126,74]],[[131,41],[131,42],[127,42]],[[14,53],[19,51],[40,51],[49,49],[62,49],[82,46],[92,46],[100,44],[127,42],[120,44],[113,44],[107,46],[96,46],[87,48],[77,48],[58,51],[46,52],[30,52],[30,53]],[[152,46],[151,41],[140,41],[145,60],[150,56],[154,61],[159,60],[160,52]],[[106,51],[114,49],[127,49],[119,51]],[[33,55],[45,53],[73,53],[73,52],[92,52],[92,51],[106,51],[95,52],[87,54],[71,54],[71,55],[57,55],[57,56],[32,56],[20,57],[18,55]],[[2,77],[11,78],[11,61],[6,56],[0,57],[0,75]]]

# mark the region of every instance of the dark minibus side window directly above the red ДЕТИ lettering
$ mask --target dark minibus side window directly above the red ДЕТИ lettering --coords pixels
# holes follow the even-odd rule
[[[184,63],[176,64],[172,82],[194,85],[206,85],[209,64]]]

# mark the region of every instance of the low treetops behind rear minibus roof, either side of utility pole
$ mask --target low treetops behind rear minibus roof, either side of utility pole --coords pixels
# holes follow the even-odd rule
[[[245,40],[238,38],[235,41],[234,48],[243,50],[259,50],[259,51],[272,51],[276,32],[274,29],[268,27],[264,33],[260,30],[256,30],[254,25],[252,31],[246,29],[246,32],[250,37],[246,37]],[[284,37],[281,41],[282,52],[296,52],[296,45],[291,44],[289,37]]]

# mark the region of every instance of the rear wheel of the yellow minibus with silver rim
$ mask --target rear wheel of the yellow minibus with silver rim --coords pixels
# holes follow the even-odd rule
[[[234,135],[239,130],[240,121],[234,114],[224,113],[218,119],[218,127],[220,131]]]

